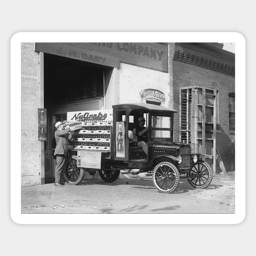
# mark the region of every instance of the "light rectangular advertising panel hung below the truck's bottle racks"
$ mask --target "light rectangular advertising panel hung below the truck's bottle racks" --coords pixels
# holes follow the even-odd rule
[[[101,152],[78,151],[77,166],[84,168],[100,169],[101,168]]]

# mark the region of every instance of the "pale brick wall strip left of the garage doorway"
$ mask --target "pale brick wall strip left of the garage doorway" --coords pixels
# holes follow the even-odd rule
[[[34,43],[21,44],[21,185],[40,184],[38,141],[39,54]]]

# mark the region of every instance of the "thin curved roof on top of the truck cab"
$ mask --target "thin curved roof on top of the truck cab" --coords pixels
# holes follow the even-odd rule
[[[173,112],[176,113],[177,111],[171,108],[167,108],[164,106],[158,106],[149,103],[123,103],[123,104],[116,104],[112,106],[113,108],[140,108],[143,110],[148,111],[161,111],[161,112]]]

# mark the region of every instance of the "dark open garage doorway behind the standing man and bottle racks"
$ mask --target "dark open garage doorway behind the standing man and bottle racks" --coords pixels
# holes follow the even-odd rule
[[[48,141],[44,145],[45,183],[55,179],[55,126],[67,112],[103,108],[104,73],[113,68],[44,53],[44,108],[47,109]]]

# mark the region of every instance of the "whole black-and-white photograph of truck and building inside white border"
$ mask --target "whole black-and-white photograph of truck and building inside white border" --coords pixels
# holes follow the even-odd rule
[[[21,218],[239,215],[240,36],[20,41]]]

